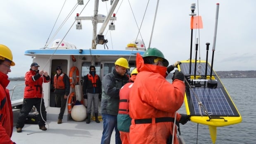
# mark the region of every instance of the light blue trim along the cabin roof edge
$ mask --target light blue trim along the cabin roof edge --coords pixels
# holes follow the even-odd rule
[[[136,55],[137,52],[143,55],[145,52],[137,50],[82,50],[83,52],[81,54],[79,53],[79,49],[60,49],[56,51],[54,49],[26,50],[24,55],[48,55],[53,54],[53,52],[55,52],[55,55]]]

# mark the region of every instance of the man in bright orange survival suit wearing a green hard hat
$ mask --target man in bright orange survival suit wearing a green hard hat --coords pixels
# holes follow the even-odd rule
[[[150,48],[136,57],[136,80],[130,90],[131,144],[166,144],[173,135],[175,112],[183,104],[184,74],[175,71],[173,83],[166,77],[168,61],[156,48]],[[185,124],[189,116],[177,113],[176,121]],[[176,128],[176,127],[175,127]],[[178,144],[174,133],[174,144]]]

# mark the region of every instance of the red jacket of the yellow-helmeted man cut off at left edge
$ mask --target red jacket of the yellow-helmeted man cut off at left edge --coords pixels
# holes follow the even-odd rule
[[[13,144],[13,115],[12,104],[10,100],[9,90],[6,89],[9,84],[8,76],[0,72],[0,143]]]

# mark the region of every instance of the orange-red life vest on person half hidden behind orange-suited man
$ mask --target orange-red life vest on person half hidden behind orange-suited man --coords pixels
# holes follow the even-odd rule
[[[129,114],[129,94],[133,83],[125,84],[119,92],[119,114]]]

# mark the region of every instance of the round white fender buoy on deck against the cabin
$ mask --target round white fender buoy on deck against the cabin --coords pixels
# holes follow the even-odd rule
[[[71,117],[75,121],[83,121],[86,118],[86,108],[83,104],[74,105],[71,110]]]

